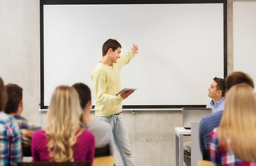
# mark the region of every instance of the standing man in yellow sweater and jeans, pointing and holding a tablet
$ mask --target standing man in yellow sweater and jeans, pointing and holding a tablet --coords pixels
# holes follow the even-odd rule
[[[122,101],[134,91],[122,91],[119,71],[124,64],[137,54],[138,46],[133,44],[132,50],[124,55],[121,53],[121,44],[115,39],[108,39],[102,46],[103,57],[92,72],[92,83],[94,96],[96,98],[95,116],[96,120],[108,122],[113,131],[114,143],[123,161],[123,165],[134,165],[128,131],[123,122],[121,111]]]

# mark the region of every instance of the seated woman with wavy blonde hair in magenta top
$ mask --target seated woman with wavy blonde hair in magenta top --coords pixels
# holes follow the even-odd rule
[[[82,109],[76,90],[58,86],[53,92],[45,129],[35,131],[31,151],[34,161],[93,163],[95,142],[90,131],[83,129],[79,117]]]

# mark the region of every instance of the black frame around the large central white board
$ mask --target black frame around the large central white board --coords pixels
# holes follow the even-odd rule
[[[57,5],[60,3],[65,3],[65,4],[76,4],[76,3],[81,3],[81,1],[40,1],[40,23],[41,23],[41,109],[46,109],[48,106],[44,104],[44,34],[43,34],[43,25],[42,25],[42,20],[43,20],[43,6],[44,4],[52,4],[52,5]],[[86,2],[86,3],[110,3],[110,2],[102,2],[102,1],[93,1],[93,2]],[[120,2],[114,2],[112,1],[111,3],[120,3]],[[123,1],[122,3],[126,3],[125,1]],[[122,4],[121,3],[121,4]],[[130,2],[129,2],[130,3]],[[140,3],[146,3],[146,4],[151,4],[153,2],[146,2],[146,1],[137,1],[136,4],[140,4]],[[226,40],[227,40],[227,33],[226,33],[226,1],[157,1],[155,3],[177,3],[177,4],[182,4],[182,3],[223,3],[223,75],[219,76],[219,77],[225,77],[225,75],[227,75],[227,44],[226,44]],[[132,3],[135,4],[135,3]],[[122,43],[121,43],[122,44]],[[100,57],[99,57],[100,59]],[[132,63],[132,62],[131,62]],[[130,64],[129,64],[130,65]],[[213,64],[214,65],[214,64]],[[218,75],[213,75],[211,76],[212,78],[218,76]],[[202,78],[203,79],[203,78]],[[212,80],[210,80],[212,81]],[[211,82],[209,82],[210,84]],[[135,87],[136,88],[136,87]],[[92,89],[92,87],[91,87]],[[205,89],[205,91],[207,92],[207,89]],[[205,95],[207,95],[207,93],[205,93]],[[123,108],[126,109],[180,109],[182,107],[205,107],[206,103],[197,103],[197,104],[154,104],[154,105],[125,105],[123,106]]]

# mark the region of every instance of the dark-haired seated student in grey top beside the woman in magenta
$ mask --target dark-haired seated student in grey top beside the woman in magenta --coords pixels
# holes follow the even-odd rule
[[[94,121],[89,116],[89,112],[92,109],[92,98],[89,87],[83,83],[76,83],[72,86],[78,92],[80,106],[83,109],[83,127],[94,133],[95,147],[105,147],[105,145],[109,145],[110,156],[114,156],[114,138],[110,124],[107,122]]]

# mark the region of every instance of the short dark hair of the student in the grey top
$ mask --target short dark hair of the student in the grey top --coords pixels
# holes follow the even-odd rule
[[[82,109],[85,109],[86,104],[91,100],[91,90],[86,84],[83,83],[76,83],[72,85],[74,89],[78,92],[79,100],[80,100],[80,106]]]

